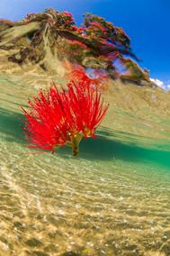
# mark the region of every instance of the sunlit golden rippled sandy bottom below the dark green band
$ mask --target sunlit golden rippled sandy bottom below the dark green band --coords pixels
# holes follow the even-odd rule
[[[163,180],[157,190],[148,176],[137,172],[130,179],[131,167],[122,176],[111,162],[91,163],[89,172],[86,160],[64,166],[62,158],[46,157],[12,159],[13,169],[8,160],[1,169],[1,253],[168,255],[169,188]]]

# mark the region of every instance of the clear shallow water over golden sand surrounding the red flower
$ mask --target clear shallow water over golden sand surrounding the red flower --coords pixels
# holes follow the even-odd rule
[[[0,81],[0,255],[170,255],[168,133],[130,133],[111,105],[79,156],[37,153],[19,127],[32,88]]]

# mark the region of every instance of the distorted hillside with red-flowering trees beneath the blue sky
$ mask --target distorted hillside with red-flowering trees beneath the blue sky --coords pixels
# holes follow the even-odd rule
[[[72,14],[53,9],[28,14],[21,22],[0,20],[2,72],[36,69],[62,77],[79,65],[101,70],[112,79],[153,85],[148,71],[133,59],[139,60],[131,50],[128,35],[94,14],[85,14],[82,27],[76,26]],[[120,73],[115,63],[125,71]]]

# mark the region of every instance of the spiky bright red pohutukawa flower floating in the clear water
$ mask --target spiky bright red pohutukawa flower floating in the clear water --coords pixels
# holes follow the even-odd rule
[[[83,137],[94,137],[109,105],[103,106],[101,94],[91,87],[89,79],[77,83],[71,81],[67,89],[58,90],[52,83],[49,92],[40,90],[28,102],[26,117],[26,141],[30,148],[54,151],[60,146],[71,146],[78,153]]]

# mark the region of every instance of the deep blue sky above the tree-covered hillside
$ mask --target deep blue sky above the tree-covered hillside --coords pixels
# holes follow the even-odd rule
[[[71,12],[76,23],[92,12],[128,33],[139,63],[150,77],[170,84],[170,0],[0,0],[0,18],[13,21],[53,7]]]

